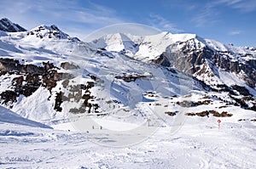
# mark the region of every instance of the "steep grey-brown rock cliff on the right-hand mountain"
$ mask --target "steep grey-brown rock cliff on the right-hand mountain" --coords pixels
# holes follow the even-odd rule
[[[245,62],[230,58],[229,52],[219,52],[207,46],[203,48],[191,48],[193,40],[188,42],[177,42],[166,49],[166,52],[160,55],[157,63],[160,65],[173,65],[177,70],[181,70],[189,75],[198,76],[208,74],[210,76],[218,76],[217,68],[221,68],[227,72],[242,74],[242,78],[249,87],[255,87],[256,84],[256,59],[249,59]],[[177,45],[182,45],[180,50],[173,50]],[[163,57],[165,56],[165,57]],[[240,54],[239,57],[245,57]],[[167,60],[166,60],[167,59]],[[169,63],[168,63],[169,62]],[[163,64],[164,63],[164,64]],[[208,65],[211,69],[204,70],[204,66]]]

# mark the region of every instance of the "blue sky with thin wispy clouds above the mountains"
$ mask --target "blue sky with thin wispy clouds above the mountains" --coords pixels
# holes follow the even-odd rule
[[[138,23],[256,46],[256,0],[2,0],[0,16],[26,29],[55,24],[81,39],[104,26]]]

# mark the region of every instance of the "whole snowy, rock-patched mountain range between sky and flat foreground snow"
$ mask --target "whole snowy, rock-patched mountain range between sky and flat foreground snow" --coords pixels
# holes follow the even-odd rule
[[[161,118],[256,111],[253,47],[170,32],[82,42],[56,25],[26,31],[8,19],[0,20],[0,30],[1,104],[35,121],[131,114],[127,121],[137,122],[149,110]]]

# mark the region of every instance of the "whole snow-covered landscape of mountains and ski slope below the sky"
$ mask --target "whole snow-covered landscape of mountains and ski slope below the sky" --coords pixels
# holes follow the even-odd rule
[[[1,168],[256,167],[255,48],[3,21]]]

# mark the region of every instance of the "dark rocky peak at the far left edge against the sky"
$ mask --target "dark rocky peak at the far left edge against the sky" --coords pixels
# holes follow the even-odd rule
[[[26,31],[25,28],[13,23],[7,18],[3,18],[2,20],[0,20],[0,30],[8,32]]]

